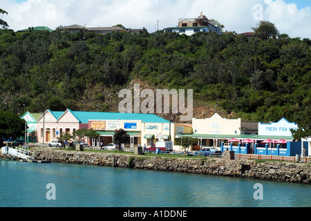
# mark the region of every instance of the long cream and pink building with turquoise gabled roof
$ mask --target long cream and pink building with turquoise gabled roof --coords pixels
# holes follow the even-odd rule
[[[97,140],[89,140],[92,146],[100,146],[100,143],[113,142],[113,134],[116,129],[122,128],[130,135],[127,146],[133,148],[137,144],[151,146],[156,141],[170,140],[175,127],[162,117],[144,113],[107,113],[89,111],[50,111],[37,121],[38,142],[46,144],[57,139],[62,133],[70,133],[82,128],[92,128],[100,134]]]

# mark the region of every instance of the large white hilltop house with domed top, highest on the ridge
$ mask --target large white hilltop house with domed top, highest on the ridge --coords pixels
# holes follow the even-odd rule
[[[220,27],[212,25],[209,19],[201,12],[197,18],[178,19],[177,27],[164,28],[164,32],[178,32],[180,35],[194,35],[196,32],[215,32],[220,34]]]

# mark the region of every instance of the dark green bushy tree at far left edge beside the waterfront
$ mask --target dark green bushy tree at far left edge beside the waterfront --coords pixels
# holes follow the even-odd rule
[[[25,135],[25,120],[9,111],[0,111],[0,145],[3,146],[3,139],[21,135]]]

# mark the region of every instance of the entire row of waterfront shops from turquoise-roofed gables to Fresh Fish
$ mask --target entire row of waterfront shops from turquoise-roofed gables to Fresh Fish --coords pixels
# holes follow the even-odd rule
[[[93,128],[100,134],[98,139],[84,140],[90,146],[100,146],[113,143],[115,129],[122,128],[130,139],[125,146],[151,146],[158,141],[172,141],[174,150],[182,151],[181,146],[175,144],[176,137],[196,137],[198,146],[214,146],[220,148],[230,146],[233,138],[240,143],[250,139],[250,148],[261,145],[264,140],[277,142],[294,142],[290,129],[296,129],[296,123],[282,118],[279,122],[243,122],[241,118],[227,119],[217,113],[206,119],[192,119],[192,124],[176,124],[153,114],[142,113],[103,113],[86,111],[50,111],[45,113],[26,112],[21,118],[28,125],[27,143],[37,142],[46,144],[56,140],[62,133],[72,134],[82,128]],[[309,141],[309,146],[311,141]],[[274,145],[274,144],[272,144]],[[282,146],[286,147],[286,144]],[[309,151],[310,153],[310,151]]]

